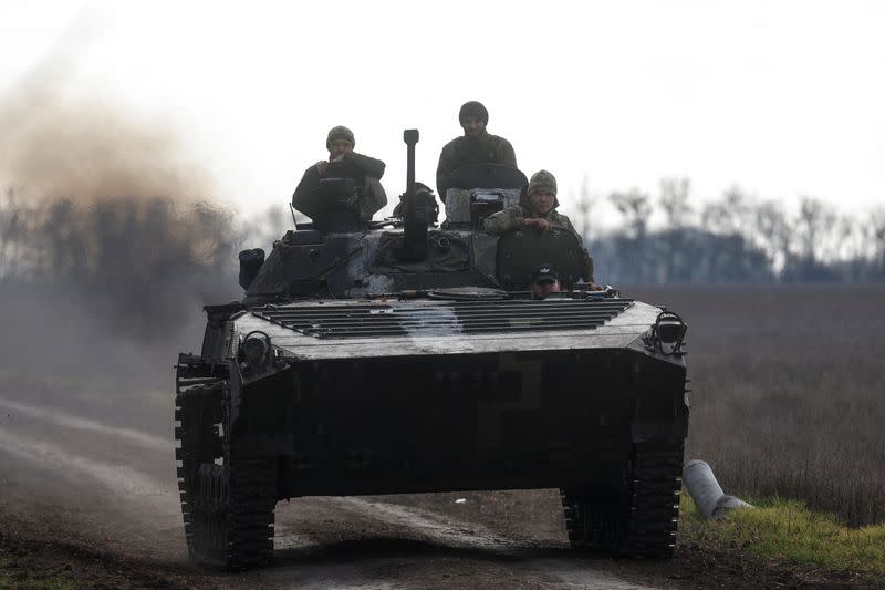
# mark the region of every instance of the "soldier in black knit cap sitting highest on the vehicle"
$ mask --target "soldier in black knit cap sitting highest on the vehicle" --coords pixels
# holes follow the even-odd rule
[[[482,103],[470,101],[461,105],[458,121],[464,127],[464,136],[456,137],[442,147],[436,168],[436,189],[442,203],[446,203],[451,174],[462,166],[498,164],[517,168],[517,155],[510,142],[486,131],[489,112]]]

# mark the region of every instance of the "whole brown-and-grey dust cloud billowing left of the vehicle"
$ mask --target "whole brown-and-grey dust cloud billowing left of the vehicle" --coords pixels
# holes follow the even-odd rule
[[[241,294],[242,226],[174,128],[73,92],[63,65],[0,95],[0,371],[167,386],[200,307]]]

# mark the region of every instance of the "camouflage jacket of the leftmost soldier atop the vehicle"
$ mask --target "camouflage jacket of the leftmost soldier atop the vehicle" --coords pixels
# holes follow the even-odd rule
[[[346,154],[341,162],[330,162],[324,174],[320,174],[313,165],[304,172],[304,176],[292,195],[292,205],[313,220],[322,215],[324,203],[320,195],[320,180],[323,178],[353,178],[360,187],[357,207],[360,218],[368,221],[372,216],[387,205],[387,195],[381,186],[384,176],[384,162],[363,154],[352,152]]]

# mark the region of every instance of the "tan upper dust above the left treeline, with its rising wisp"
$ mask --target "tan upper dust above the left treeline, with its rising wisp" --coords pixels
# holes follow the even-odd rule
[[[101,37],[83,8],[33,66],[0,94],[0,182],[31,200],[205,198],[216,193],[166,123],[138,117],[122,100],[77,77]],[[135,91],[132,91],[135,92]]]

